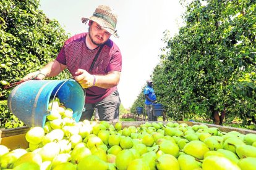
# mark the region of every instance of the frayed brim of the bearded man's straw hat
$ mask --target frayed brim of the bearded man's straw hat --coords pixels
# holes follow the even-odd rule
[[[116,30],[113,28],[112,25],[110,25],[105,20],[92,16],[92,17],[84,17],[85,20],[92,20],[93,22],[98,23],[100,26],[103,27],[104,30],[108,31],[109,33],[113,34],[115,38],[119,38],[118,34],[116,33]],[[84,21],[83,21],[84,22]],[[87,22],[87,21],[86,21]],[[86,23],[85,22],[85,23]]]

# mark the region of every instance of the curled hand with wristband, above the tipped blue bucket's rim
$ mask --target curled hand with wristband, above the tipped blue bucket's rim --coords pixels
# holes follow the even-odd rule
[[[86,70],[78,69],[75,72],[75,80],[83,87],[88,88],[93,86],[94,76],[90,75]]]

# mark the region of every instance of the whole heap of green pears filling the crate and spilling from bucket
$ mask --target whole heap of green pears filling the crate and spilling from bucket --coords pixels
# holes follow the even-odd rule
[[[58,98],[44,127],[32,127],[27,149],[0,145],[1,169],[256,169],[256,134],[221,132],[205,124],[72,118]]]

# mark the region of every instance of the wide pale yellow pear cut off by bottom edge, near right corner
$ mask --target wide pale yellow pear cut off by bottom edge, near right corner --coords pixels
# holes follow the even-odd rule
[[[203,160],[202,168],[207,170],[240,170],[236,163],[233,163],[228,158],[223,156],[207,156],[207,158]]]

